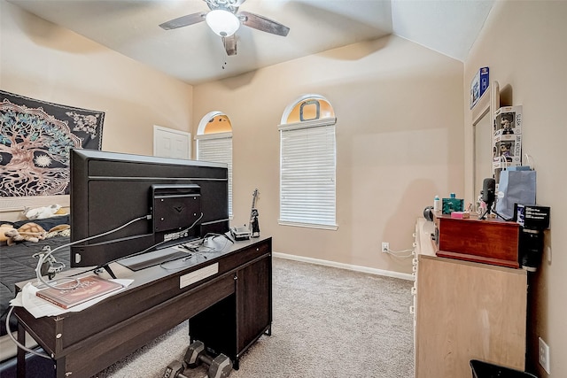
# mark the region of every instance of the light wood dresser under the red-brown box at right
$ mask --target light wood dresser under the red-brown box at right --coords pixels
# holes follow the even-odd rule
[[[416,377],[468,377],[470,359],[524,370],[526,272],[439,258],[431,232],[418,220]]]

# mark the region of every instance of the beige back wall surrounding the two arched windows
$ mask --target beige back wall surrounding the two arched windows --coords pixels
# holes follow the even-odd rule
[[[277,252],[408,274],[411,258],[381,243],[411,249],[433,197],[462,195],[462,63],[413,42],[361,42],[194,90],[193,125],[214,110],[232,122],[233,223],[248,222],[260,189],[260,230]],[[325,96],[338,119],[337,231],[277,223],[277,126],[305,94]]]

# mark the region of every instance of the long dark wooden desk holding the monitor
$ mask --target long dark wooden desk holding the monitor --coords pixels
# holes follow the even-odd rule
[[[90,377],[195,317],[191,340],[228,355],[238,368],[242,353],[271,332],[271,252],[271,238],[251,239],[228,243],[221,252],[195,253],[189,266],[173,272],[160,266],[128,270],[128,276],[118,274],[134,279],[128,289],[82,312],[35,319],[16,307],[18,338],[26,332],[34,337],[54,359],[57,377]],[[198,280],[210,272],[216,273]],[[198,281],[180,288],[188,280]],[[18,351],[19,377],[26,374],[25,354]]]

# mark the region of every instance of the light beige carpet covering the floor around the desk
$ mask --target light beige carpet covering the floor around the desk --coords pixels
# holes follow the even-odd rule
[[[261,336],[233,378],[414,376],[413,282],[273,260],[272,336]],[[187,322],[97,374],[99,378],[160,377],[183,359]],[[185,370],[206,377],[203,366]]]

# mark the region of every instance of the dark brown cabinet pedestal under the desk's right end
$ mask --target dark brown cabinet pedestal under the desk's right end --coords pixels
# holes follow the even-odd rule
[[[189,321],[191,342],[205,343],[211,354],[226,354],[236,369],[242,353],[260,336],[271,333],[271,239],[239,253],[252,254],[253,258],[234,272],[235,294]]]

